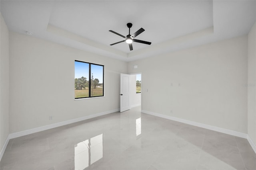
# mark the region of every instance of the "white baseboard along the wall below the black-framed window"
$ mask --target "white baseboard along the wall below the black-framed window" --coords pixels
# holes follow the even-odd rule
[[[55,127],[60,127],[60,126],[63,126],[63,125],[68,125],[70,123],[76,123],[78,121],[83,121],[83,120],[86,120],[86,119],[91,119],[91,118],[106,115],[106,114],[109,114],[109,113],[114,113],[116,111],[120,111],[120,109],[104,111],[102,113],[96,113],[96,114],[93,114],[93,115],[88,115],[88,116],[79,117],[79,118],[76,118],[76,119],[62,121],[62,122],[54,123],[54,124],[51,124],[51,125],[46,125],[46,126],[36,127],[36,128],[33,128],[33,129],[28,129],[28,130],[25,130],[25,131],[11,133],[9,135],[9,137],[10,137],[9,139],[13,139],[13,138],[16,138],[16,137],[21,137],[21,136],[24,136],[24,135],[29,135],[29,134],[40,132],[40,131],[45,131],[45,130],[52,129],[52,128],[55,128]]]

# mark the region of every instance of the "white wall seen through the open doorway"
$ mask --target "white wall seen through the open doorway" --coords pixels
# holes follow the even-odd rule
[[[131,107],[140,106],[141,93],[136,93],[136,74],[131,75]]]

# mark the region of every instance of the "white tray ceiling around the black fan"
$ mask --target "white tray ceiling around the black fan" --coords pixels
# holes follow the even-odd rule
[[[256,22],[255,0],[1,0],[8,28],[70,47],[134,61],[245,35]],[[136,39],[151,45],[110,44],[145,29]]]

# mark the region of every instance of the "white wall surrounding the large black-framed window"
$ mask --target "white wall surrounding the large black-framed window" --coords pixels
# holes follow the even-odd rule
[[[74,60],[105,66],[104,98],[74,100]],[[120,108],[120,73],[127,63],[10,32],[10,133]]]

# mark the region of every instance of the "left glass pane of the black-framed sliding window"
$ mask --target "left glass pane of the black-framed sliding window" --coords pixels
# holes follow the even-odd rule
[[[75,98],[89,97],[89,63],[75,61]]]

